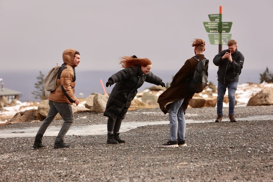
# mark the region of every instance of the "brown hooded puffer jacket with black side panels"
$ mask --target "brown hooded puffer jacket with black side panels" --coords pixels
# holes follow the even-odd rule
[[[60,79],[57,79],[57,88],[50,92],[48,99],[54,102],[72,104],[77,100],[75,96],[75,78],[74,78],[74,55],[75,49],[66,49],[63,51],[63,62],[65,69],[61,72]],[[63,64],[64,65],[64,64]]]

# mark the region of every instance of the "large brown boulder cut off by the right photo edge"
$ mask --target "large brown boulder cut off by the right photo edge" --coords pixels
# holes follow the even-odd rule
[[[267,87],[261,90],[259,93],[252,96],[247,106],[272,106],[273,105],[273,88]]]

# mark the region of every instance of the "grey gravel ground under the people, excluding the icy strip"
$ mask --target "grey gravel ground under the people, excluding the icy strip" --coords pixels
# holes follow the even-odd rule
[[[147,113],[148,112],[148,113]],[[31,149],[34,138],[1,138],[0,181],[273,181],[273,106],[235,107],[235,118],[272,115],[267,121],[215,123],[216,108],[188,108],[186,147],[163,148],[169,125],[148,125],[120,134],[127,143],[106,144],[107,135],[66,136],[71,148]],[[75,114],[73,125],[105,124],[102,114]],[[228,118],[228,108],[224,108]],[[129,111],[123,122],[166,121],[158,107]],[[56,120],[51,126],[60,126]],[[41,121],[3,125],[39,127]],[[122,127],[122,125],[121,125]]]

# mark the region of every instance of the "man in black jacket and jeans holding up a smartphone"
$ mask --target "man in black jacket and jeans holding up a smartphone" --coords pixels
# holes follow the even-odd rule
[[[214,59],[214,65],[218,66],[217,76],[217,118],[215,122],[222,121],[223,100],[228,88],[229,97],[229,119],[231,122],[237,122],[235,114],[235,92],[239,81],[241,69],[243,69],[244,56],[237,50],[237,42],[229,40],[227,43],[229,49],[218,53]]]

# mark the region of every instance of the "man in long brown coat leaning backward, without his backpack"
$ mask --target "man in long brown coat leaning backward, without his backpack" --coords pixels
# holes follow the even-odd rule
[[[192,47],[194,47],[194,57],[198,57],[200,60],[205,59],[203,55],[205,51],[204,40],[195,39]],[[187,146],[185,142],[186,120],[184,115],[189,101],[194,95],[187,88],[187,80],[193,76],[197,63],[198,61],[193,57],[187,59],[175,74],[171,86],[158,97],[159,107],[164,114],[169,113],[170,121],[170,139],[167,143],[162,144],[163,147]]]

